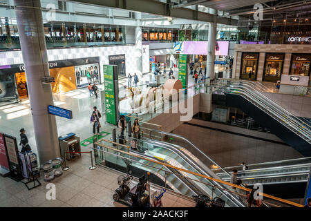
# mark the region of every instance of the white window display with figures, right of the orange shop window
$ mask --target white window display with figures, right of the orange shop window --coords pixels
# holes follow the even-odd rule
[[[77,88],[82,88],[91,84],[100,83],[100,69],[98,64],[86,64],[75,66],[75,79]]]

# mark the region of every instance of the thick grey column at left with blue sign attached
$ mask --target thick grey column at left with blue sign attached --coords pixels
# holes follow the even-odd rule
[[[41,83],[42,77],[49,77],[50,72],[40,0],[15,0],[14,3],[38,157],[42,164],[59,157],[60,152],[55,116],[47,111],[48,105],[53,105],[52,89],[50,84]]]

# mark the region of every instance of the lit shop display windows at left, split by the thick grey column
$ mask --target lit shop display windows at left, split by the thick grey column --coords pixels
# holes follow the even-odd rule
[[[49,61],[53,93],[64,93],[91,84],[100,84],[100,57]],[[0,106],[28,97],[23,64],[0,66]]]

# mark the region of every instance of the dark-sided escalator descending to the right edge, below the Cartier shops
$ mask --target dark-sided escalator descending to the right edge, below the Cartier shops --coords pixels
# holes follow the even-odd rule
[[[310,125],[256,90],[256,84],[253,84],[245,81],[229,84],[225,94],[226,106],[241,109],[296,151],[310,157]]]

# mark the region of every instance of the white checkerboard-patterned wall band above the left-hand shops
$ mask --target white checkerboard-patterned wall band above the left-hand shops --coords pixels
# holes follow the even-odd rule
[[[104,46],[104,47],[92,47],[92,48],[64,48],[64,49],[49,49],[48,61],[77,59],[84,57],[100,57],[100,65],[109,64],[109,55],[122,55],[125,54],[126,73],[137,72],[137,66],[135,65],[135,45],[131,46]],[[146,58],[142,63],[143,70],[149,70],[149,45],[146,48]],[[0,66],[10,64],[23,64],[23,57],[21,51],[6,51],[0,52]],[[100,68],[102,72],[103,68]]]

